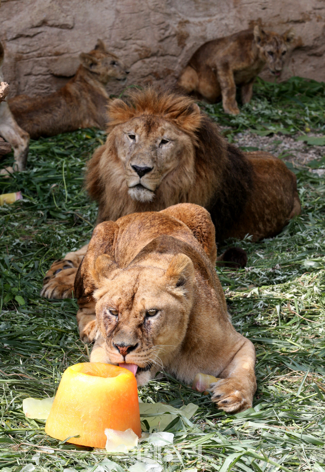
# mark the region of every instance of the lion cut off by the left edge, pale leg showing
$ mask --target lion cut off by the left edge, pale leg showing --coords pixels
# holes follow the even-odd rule
[[[2,62],[4,59],[4,49],[0,43],[0,82],[3,81]],[[7,101],[0,103],[0,136],[14,149],[14,166],[8,167],[8,171],[25,170],[28,149],[29,149],[29,134],[22,130],[16,123],[16,120],[11,113]],[[1,174],[6,174],[6,170],[2,169]]]

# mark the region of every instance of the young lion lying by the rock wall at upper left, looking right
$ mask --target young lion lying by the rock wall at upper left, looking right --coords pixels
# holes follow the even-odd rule
[[[78,128],[105,129],[110,79],[125,80],[129,71],[98,39],[95,49],[80,54],[81,65],[64,87],[45,97],[18,95],[8,100],[21,128],[32,139],[54,136]]]

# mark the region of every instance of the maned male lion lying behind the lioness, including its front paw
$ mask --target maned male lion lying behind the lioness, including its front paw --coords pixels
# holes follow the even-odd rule
[[[196,203],[211,213],[216,242],[274,236],[300,213],[296,178],[267,152],[229,144],[194,100],[148,87],[109,105],[109,134],[88,163],[97,223]],[[87,246],[55,261],[41,294],[68,298]],[[66,270],[62,270],[66,269]]]

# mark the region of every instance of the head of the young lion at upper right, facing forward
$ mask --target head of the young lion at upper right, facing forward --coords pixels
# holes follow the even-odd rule
[[[266,62],[272,74],[281,74],[287,53],[292,47],[294,36],[295,33],[292,28],[280,35],[271,32],[266,33],[260,26],[255,26],[254,38],[259,49],[260,59]]]

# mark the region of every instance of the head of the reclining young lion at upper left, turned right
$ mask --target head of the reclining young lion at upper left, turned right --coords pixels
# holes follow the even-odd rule
[[[103,84],[106,84],[110,79],[126,80],[127,74],[129,74],[123,61],[113,52],[109,52],[100,39],[92,51],[81,52],[79,57],[83,67],[96,74],[98,80]]]

